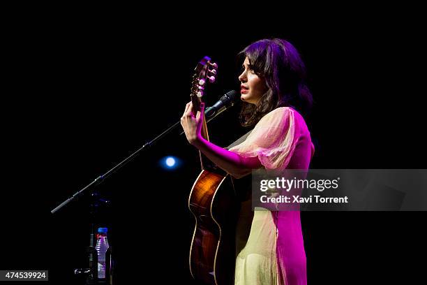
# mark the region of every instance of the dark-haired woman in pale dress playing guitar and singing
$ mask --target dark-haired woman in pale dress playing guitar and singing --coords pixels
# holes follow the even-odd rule
[[[287,41],[275,38],[257,41],[241,54],[245,57],[239,75],[244,101],[241,122],[255,125],[253,131],[239,145],[228,150],[218,147],[201,136],[204,105],[195,112],[188,103],[181,118],[188,142],[235,178],[257,168],[308,169],[314,146],[297,110],[309,108],[312,99],[299,53]],[[237,226],[234,284],[306,284],[299,212],[255,210],[248,215],[244,204]],[[241,242],[241,224],[250,218],[250,233]]]

